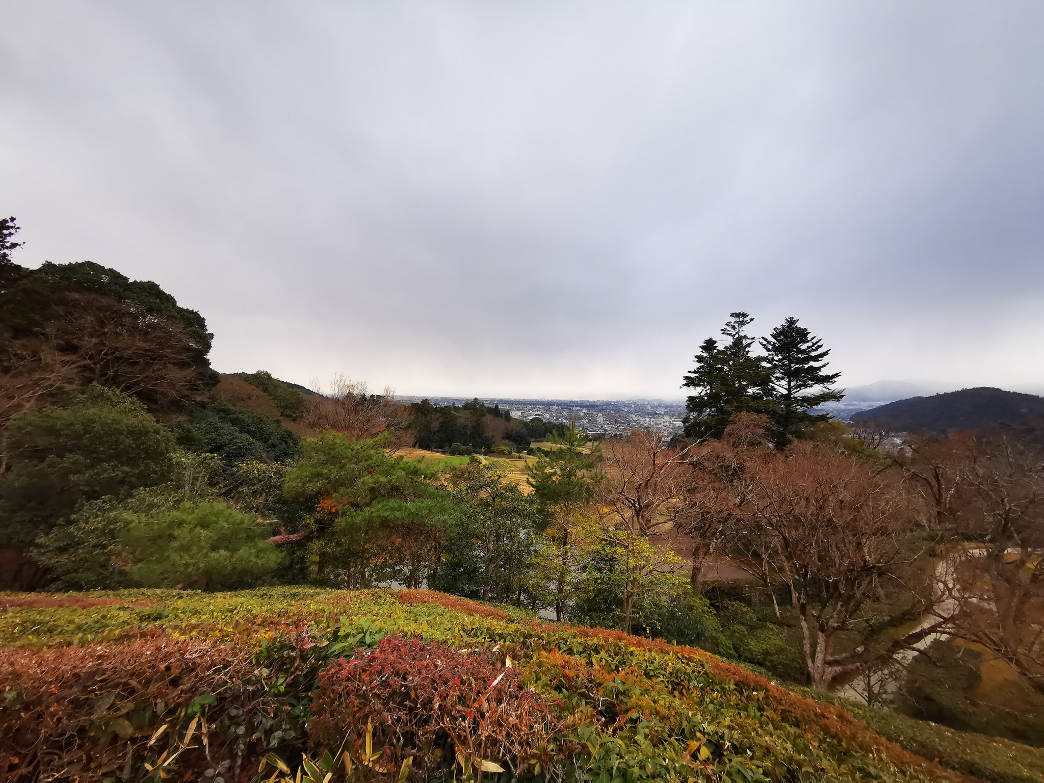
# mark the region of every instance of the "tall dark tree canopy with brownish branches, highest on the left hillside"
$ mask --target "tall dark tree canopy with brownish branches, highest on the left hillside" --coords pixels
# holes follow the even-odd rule
[[[0,224],[0,373],[18,379],[22,397],[98,383],[171,409],[217,382],[199,313],[153,282],[92,261],[19,266],[10,261],[17,230],[14,218]]]

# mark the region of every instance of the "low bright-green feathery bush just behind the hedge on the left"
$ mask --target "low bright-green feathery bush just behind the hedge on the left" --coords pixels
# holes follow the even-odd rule
[[[138,515],[120,545],[135,565],[126,571],[143,587],[231,590],[263,579],[283,559],[256,517],[212,501],[182,503]]]

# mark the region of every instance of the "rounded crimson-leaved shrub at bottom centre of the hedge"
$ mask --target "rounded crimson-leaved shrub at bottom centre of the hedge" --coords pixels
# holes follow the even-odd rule
[[[386,636],[376,650],[330,664],[319,682],[310,736],[329,745],[347,736],[359,759],[372,725],[379,773],[395,774],[409,757],[419,776],[455,757],[515,768],[552,761],[548,743],[559,720],[495,654]]]

